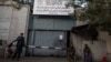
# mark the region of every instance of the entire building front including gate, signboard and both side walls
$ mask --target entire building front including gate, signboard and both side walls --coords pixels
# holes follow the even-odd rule
[[[87,22],[74,21],[74,19],[68,16],[68,12],[52,12],[53,7],[51,9],[47,8],[47,11],[50,10],[51,12],[41,12],[38,10],[39,8],[37,8],[36,10],[39,12],[33,13],[34,0],[14,1],[22,4],[21,9],[18,10],[13,8],[10,1],[3,4],[0,2],[0,40],[10,43],[19,33],[23,32],[26,44],[32,45],[31,48],[24,49],[23,54],[67,56],[65,49],[69,46],[70,41],[72,41],[78,56],[83,58],[83,48],[84,44],[88,44],[92,50],[94,60],[101,61],[105,54],[109,60],[111,59],[111,42],[110,35],[107,32],[99,32],[101,40],[91,44],[91,41],[84,40],[77,34],[71,33],[70,35],[72,27],[87,24]],[[42,0],[40,1],[42,2]],[[59,0],[54,0],[54,2],[56,1]],[[2,55],[3,52],[4,46],[0,45],[0,53],[2,53]]]

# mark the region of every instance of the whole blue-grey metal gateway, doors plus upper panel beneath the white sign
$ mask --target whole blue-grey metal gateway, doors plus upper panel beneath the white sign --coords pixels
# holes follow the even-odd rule
[[[68,17],[34,16],[29,21],[28,45],[57,49],[28,49],[33,55],[67,55],[67,31],[75,25],[75,21]],[[60,41],[59,38],[63,37]],[[58,49],[59,48],[59,49]]]

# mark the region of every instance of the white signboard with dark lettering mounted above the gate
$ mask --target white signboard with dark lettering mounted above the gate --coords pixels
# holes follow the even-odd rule
[[[72,7],[65,7],[69,0],[34,0],[33,14],[69,16]]]

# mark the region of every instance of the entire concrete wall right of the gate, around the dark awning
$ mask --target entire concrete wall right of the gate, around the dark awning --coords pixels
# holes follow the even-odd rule
[[[77,21],[77,27],[87,24],[88,21]],[[107,55],[108,61],[111,62],[111,35],[108,32],[99,31],[99,41],[94,41],[91,44],[91,41],[84,40],[81,37],[72,33],[71,41],[75,46],[77,55],[83,59],[83,48],[87,43],[93,54],[93,59],[100,61],[103,55]]]

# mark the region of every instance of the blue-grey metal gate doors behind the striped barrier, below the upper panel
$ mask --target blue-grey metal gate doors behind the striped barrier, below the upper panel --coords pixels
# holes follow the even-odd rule
[[[60,41],[60,35],[63,35],[63,40]],[[33,55],[67,55],[67,38],[63,31],[36,31],[34,32],[34,43],[36,46],[41,46],[41,49],[33,49]],[[61,48],[61,49],[42,49],[44,48]],[[30,51],[31,52],[31,51]]]

